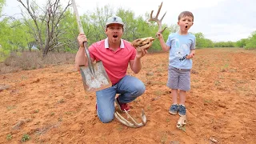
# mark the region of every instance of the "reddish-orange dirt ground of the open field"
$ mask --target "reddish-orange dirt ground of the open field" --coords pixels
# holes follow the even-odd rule
[[[187,124],[176,127],[166,87],[168,53],[147,54],[134,75],[146,93],[130,114],[146,126],[129,128],[116,118],[99,121],[95,94],[86,94],[73,65],[0,75],[0,143],[255,143],[256,51],[196,50],[187,93]],[[119,112],[121,113],[121,112]],[[125,114],[122,114],[126,116]]]

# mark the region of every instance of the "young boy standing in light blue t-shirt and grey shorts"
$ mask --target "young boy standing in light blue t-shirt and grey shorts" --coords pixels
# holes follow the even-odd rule
[[[190,11],[183,11],[178,15],[178,32],[170,34],[166,43],[162,34],[158,38],[162,50],[170,50],[168,81],[166,86],[171,89],[173,104],[170,106],[170,114],[186,115],[186,91],[190,90],[190,69],[195,52],[195,36],[188,30],[194,24],[194,15]],[[178,90],[180,103],[177,102]]]

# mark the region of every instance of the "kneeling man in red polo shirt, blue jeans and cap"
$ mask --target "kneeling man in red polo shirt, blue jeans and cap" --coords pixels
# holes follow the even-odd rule
[[[89,47],[92,61],[102,61],[112,86],[96,92],[98,118],[106,123],[114,118],[114,102],[122,111],[130,110],[127,103],[134,101],[142,95],[145,86],[138,78],[126,75],[128,64],[135,74],[142,69],[141,58],[147,54],[147,50],[138,52],[130,42],[122,39],[124,24],[122,18],[112,16],[106,21],[105,33],[107,38],[95,42]],[[85,34],[78,35],[79,50],[75,57],[75,67],[86,65],[87,59],[83,42],[86,42]],[[119,94],[115,98],[116,94]]]

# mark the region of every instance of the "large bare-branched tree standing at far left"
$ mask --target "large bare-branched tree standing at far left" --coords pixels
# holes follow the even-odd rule
[[[34,35],[35,41],[38,43],[38,49],[42,50],[42,56],[45,57],[50,50],[58,49],[63,44],[58,42],[62,36],[63,31],[58,30],[58,25],[64,18],[64,13],[69,6],[70,1],[62,10],[60,0],[48,0],[46,8],[43,9],[35,2],[26,0],[26,4],[22,0],[18,0],[26,9],[27,14],[32,18],[26,18],[26,14],[22,12],[23,20],[26,26],[30,27],[30,33]],[[41,14],[42,13],[42,14]]]

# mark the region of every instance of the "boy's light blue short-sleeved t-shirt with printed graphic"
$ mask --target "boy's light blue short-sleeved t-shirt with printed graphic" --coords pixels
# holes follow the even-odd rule
[[[190,50],[195,49],[194,34],[180,35],[178,32],[170,34],[166,45],[170,46],[169,66],[178,69],[192,68],[192,59],[186,59],[186,55],[190,54]]]

